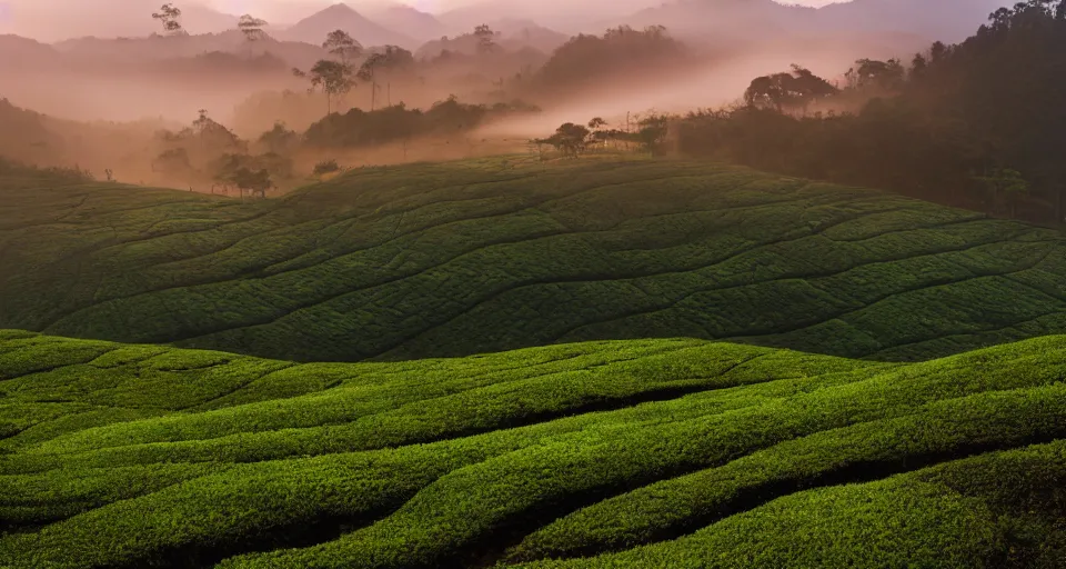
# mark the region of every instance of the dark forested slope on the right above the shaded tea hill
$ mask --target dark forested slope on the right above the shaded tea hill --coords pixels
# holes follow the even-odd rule
[[[859,61],[839,93],[792,88],[797,82],[792,73],[760,78],[748,91],[751,104],[681,121],[680,148],[761,169],[1062,222],[1064,6],[1030,0],[999,10],[973,38],[958,46],[936,43],[906,67]],[[773,78],[777,87],[767,82]],[[809,106],[846,110],[864,100],[855,112],[802,112]],[[1012,171],[1024,183],[1012,180]]]

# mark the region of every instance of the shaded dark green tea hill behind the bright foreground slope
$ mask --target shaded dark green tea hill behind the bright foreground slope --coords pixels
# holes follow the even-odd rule
[[[705,163],[360,170],[240,203],[0,182],[0,327],[296,361],[692,337],[918,360],[1066,331],[1055,231]]]

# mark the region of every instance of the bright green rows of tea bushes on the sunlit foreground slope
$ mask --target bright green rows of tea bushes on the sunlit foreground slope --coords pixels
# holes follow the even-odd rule
[[[309,363],[0,332],[0,566],[1066,567],[1066,337]]]

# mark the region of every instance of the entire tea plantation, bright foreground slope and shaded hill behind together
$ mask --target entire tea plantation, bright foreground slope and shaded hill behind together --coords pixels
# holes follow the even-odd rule
[[[1066,568],[1066,239],[742,168],[0,178],[0,568]]]

